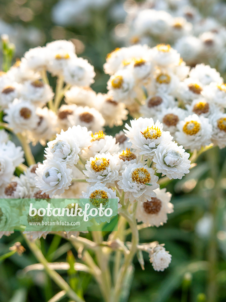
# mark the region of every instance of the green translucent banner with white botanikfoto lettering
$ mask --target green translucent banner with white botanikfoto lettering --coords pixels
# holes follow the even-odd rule
[[[117,199],[0,199],[0,231],[118,230]]]

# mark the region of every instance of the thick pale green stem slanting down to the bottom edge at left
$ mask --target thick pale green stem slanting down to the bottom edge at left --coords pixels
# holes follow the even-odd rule
[[[74,300],[75,302],[84,302],[83,299],[78,297],[78,295],[72,290],[72,288],[67,284],[67,282],[53,269],[49,268],[49,262],[43,256],[41,250],[36,245],[35,241],[30,241],[27,239],[26,235],[23,235],[27,245],[29,246],[30,250],[35,255],[36,259],[43,264],[47,274],[53,281],[67,294],[67,296]]]

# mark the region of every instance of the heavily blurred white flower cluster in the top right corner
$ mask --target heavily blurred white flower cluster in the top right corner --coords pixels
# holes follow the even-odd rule
[[[123,26],[125,34],[121,35],[128,44],[155,46],[164,41],[177,49],[190,66],[205,62],[220,71],[225,70],[224,2],[209,1],[206,5],[190,0],[147,0],[134,6],[127,10]],[[206,11],[208,17],[204,17]]]

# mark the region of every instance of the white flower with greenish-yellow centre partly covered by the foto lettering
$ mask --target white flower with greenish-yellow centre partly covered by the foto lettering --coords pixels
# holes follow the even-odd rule
[[[118,209],[121,207],[121,204],[119,204],[119,198],[116,196],[116,191],[105,187],[103,184],[96,184],[93,187],[87,187],[87,191],[82,192],[79,205],[82,209],[84,209],[86,203],[89,203],[90,210],[92,208],[98,209],[102,203],[103,209],[111,208],[113,215],[116,215]],[[95,220],[98,223],[105,221],[109,223],[110,217],[101,217],[98,215],[95,217]]]

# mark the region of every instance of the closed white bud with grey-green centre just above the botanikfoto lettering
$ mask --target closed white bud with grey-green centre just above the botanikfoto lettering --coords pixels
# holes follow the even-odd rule
[[[36,169],[36,187],[49,197],[61,194],[71,185],[71,172],[65,163],[46,159]]]

